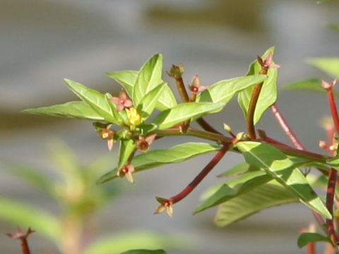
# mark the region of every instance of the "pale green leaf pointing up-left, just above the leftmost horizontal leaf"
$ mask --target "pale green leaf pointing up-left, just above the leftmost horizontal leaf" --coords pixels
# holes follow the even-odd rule
[[[81,85],[80,83],[76,83],[66,78],[64,79],[64,82],[69,87],[69,89],[71,89],[84,102],[90,105],[90,107],[92,107],[92,109],[97,112],[97,114],[102,116],[105,121],[111,123],[115,123],[117,121],[105,95],[102,95],[101,92],[97,92],[96,90],[90,89],[84,85]]]

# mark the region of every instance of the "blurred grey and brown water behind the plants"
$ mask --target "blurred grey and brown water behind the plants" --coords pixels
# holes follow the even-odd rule
[[[184,63],[186,82],[198,73],[203,85],[211,85],[244,75],[256,55],[275,45],[275,62],[283,66],[279,87],[302,78],[329,80],[305,59],[338,54],[339,35],[326,28],[339,22],[338,7],[338,1],[316,0],[1,0],[0,159],[49,171],[46,143],[52,137],[66,140],[84,162],[106,155],[107,147],[91,123],[19,111],[76,99],[63,78],[114,94],[119,85],[105,73],[137,70],[155,52],[164,55],[167,70],[172,63]],[[164,79],[173,85],[165,73]],[[278,107],[302,142],[319,152],[319,139],[326,138],[318,124],[328,114],[326,97],[280,90]],[[219,129],[226,122],[238,132],[244,131],[240,116],[233,101],[222,116],[208,119]],[[258,126],[287,142],[270,114]],[[179,142],[182,138],[167,139],[155,147]],[[299,228],[312,217],[302,205],[273,208],[221,229],[213,224],[215,209],[191,215],[201,193],[220,183],[215,176],[240,162],[239,155],[227,155],[194,193],[175,205],[174,218],[153,215],[154,197],[181,191],[210,157],[136,174],[136,186],[122,183],[124,194],[100,214],[99,234],[148,229],[186,238],[193,248],[169,253],[304,253],[296,240]],[[48,198],[1,169],[0,176],[1,196],[56,210]],[[18,243],[5,235],[13,230],[13,225],[0,221],[0,253],[18,253]],[[30,238],[33,253],[49,244],[36,235]]]

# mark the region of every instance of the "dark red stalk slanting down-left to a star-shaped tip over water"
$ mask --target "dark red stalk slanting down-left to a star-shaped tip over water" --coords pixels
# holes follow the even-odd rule
[[[178,193],[177,195],[172,196],[172,198],[169,198],[175,204],[176,202],[179,202],[183,198],[185,198],[189,193],[191,193],[196,186],[207,176],[207,174],[215,167],[218,162],[220,162],[220,159],[224,157],[227,150],[229,150],[230,145],[224,145],[221,150],[218,151],[218,153],[213,157],[213,159],[210,160],[210,162],[206,165],[206,167],[203,168],[203,170],[196,176],[191,183],[189,183],[186,188],[184,188],[183,191]]]

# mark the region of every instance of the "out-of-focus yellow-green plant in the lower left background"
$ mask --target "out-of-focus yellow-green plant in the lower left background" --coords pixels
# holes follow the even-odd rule
[[[54,200],[59,213],[47,212],[27,201],[0,196],[0,219],[32,227],[37,234],[52,241],[63,254],[112,254],[131,248],[178,246],[179,241],[174,238],[143,230],[95,237],[97,213],[121,192],[119,184],[103,186],[93,181],[109,169],[112,159],[100,157],[93,162],[81,162],[58,140],[51,145],[50,157],[58,176],[44,174],[35,167],[18,162],[8,162],[4,168]],[[18,232],[8,236],[20,239],[25,235]]]

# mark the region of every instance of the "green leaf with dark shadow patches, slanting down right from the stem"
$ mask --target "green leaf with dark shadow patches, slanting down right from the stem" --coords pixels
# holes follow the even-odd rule
[[[242,152],[248,164],[264,169],[278,183],[295,193],[305,205],[324,217],[331,218],[331,214],[309,186],[304,174],[283,152],[271,145],[253,141],[239,142],[235,146]]]

